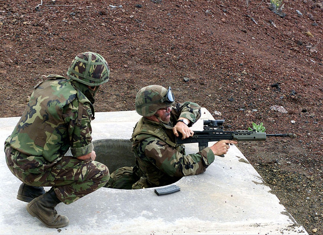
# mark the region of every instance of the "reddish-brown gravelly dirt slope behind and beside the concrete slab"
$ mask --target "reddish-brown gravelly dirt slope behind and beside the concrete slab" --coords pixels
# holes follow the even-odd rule
[[[269,0],[40,3],[0,2],[0,117],[22,114],[41,75],[65,76],[76,54],[98,52],[111,78],[97,112],[134,110],[136,92],[159,84],[220,112],[226,130],[263,122],[297,134],[238,148],[297,222],[323,234],[321,0],[284,0],[285,17]]]

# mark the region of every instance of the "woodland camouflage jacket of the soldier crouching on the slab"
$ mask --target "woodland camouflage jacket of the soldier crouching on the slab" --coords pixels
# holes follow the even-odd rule
[[[58,161],[69,147],[74,157],[93,150],[93,105],[68,80],[52,77],[35,87],[26,110],[5,141],[6,147],[10,145],[38,159],[38,166],[35,159],[32,161],[35,167]]]

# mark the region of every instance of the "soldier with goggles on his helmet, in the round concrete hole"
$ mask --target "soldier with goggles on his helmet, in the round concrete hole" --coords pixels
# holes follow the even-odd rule
[[[221,140],[196,154],[185,154],[182,138],[193,136],[190,127],[201,117],[201,108],[193,102],[175,104],[171,87],[151,85],[136,95],[136,111],[143,116],[132,133],[132,152],[136,166],[121,167],[111,173],[105,187],[140,189],[172,184],[182,176],[198,175],[225,154],[233,140]]]

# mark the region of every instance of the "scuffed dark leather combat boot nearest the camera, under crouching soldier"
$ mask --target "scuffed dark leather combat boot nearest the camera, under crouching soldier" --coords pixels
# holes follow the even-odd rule
[[[60,203],[54,189],[51,188],[45,194],[33,199],[27,205],[27,211],[33,217],[37,217],[48,228],[62,228],[68,225],[68,218],[58,215],[55,206]]]

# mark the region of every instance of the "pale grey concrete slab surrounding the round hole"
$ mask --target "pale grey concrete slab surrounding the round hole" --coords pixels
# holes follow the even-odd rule
[[[206,109],[202,113],[193,130],[202,130],[203,119],[213,119]],[[93,140],[128,140],[139,118],[135,111],[96,113]],[[0,143],[18,120],[0,118]],[[197,144],[186,147],[187,153],[198,152]],[[0,156],[5,158],[3,151]],[[61,203],[58,213],[70,219],[61,229],[49,229],[28,214],[27,203],[16,199],[21,182],[4,160],[0,178],[0,234],[308,234],[236,146],[203,174],[176,182],[181,190],[174,194],[100,188],[70,205]]]

